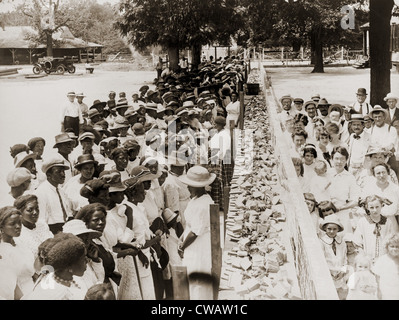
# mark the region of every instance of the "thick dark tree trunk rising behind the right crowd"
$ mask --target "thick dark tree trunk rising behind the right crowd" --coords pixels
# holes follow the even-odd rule
[[[370,103],[387,108],[384,97],[391,91],[391,13],[393,0],[370,0]]]

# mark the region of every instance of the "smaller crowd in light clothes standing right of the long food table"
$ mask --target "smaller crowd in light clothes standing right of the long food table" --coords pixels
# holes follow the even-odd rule
[[[399,97],[282,96],[280,124],[338,297],[399,299]]]

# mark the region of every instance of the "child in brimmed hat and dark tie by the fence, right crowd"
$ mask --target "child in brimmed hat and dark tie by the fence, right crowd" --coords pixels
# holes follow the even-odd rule
[[[330,214],[320,224],[320,229],[324,231],[324,234],[319,236],[321,247],[338,297],[340,300],[345,300],[348,293],[346,280],[349,271],[347,250],[342,235],[338,234],[344,230],[344,227],[336,214]]]

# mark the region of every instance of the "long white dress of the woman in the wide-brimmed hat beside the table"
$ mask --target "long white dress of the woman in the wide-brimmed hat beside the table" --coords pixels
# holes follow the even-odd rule
[[[211,231],[210,231],[210,205],[214,204],[211,196],[204,194],[201,197],[193,198],[187,204],[184,216],[186,217],[186,228],[182,235],[182,241],[190,232],[197,235],[197,238],[184,250],[182,265],[187,267],[187,275],[192,272],[211,274]],[[212,286],[204,287],[189,281],[190,299],[197,300],[203,295],[209,294],[212,297]]]

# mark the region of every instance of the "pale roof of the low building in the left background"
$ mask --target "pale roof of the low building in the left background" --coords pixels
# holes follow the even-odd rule
[[[33,42],[26,40],[28,34],[37,34],[37,31],[30,26],[0,28],[0,48],[28,49],[28,48],[45,48],[46,45],[35,45]],[[59,41],[54,48],[93,48],[103,47],[103,45],[86,42],[80,38],[75,38],[68,27],[61,27],[57,32],[53,33],[53,39]]]

